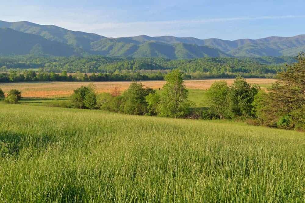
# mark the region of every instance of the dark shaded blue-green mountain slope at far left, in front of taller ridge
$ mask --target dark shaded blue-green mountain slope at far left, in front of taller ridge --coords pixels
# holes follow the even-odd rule
[[[72,56],[81,54],[81,49],[68,44],[46,40],[34,34],[0,28],[0,55],[52,55]]]

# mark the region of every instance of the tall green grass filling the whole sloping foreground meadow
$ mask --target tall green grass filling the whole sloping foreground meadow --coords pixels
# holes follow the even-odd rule
[[[303,202],[305,135],[0,104],[0,202]]]

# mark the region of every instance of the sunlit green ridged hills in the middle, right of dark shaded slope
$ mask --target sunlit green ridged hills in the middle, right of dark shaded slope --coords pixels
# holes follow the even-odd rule
[[[117,57],[162,57],[170,59],[188,59],[202,57],[230,57],[218,49],[195,44],[166,44],[147,41],[141,43],[132,39],[102,39],[91,43],[91,53]]]

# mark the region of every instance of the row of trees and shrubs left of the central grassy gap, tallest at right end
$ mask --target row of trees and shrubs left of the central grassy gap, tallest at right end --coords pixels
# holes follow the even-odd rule
[[[131,115],[158,115],[161,117],[185,117],[190,113],[192,103],[182,74],[178,70],[166,76],[162,93],[132,82],[122,94],[117,89],[111,93],[96,94],[92,86],[74,90],[71,102],[77,108],[101,109]]]

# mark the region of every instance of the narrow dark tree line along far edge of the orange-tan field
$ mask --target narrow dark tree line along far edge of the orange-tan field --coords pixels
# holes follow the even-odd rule
[[[0,82],[47,82],[47,81],[63,81],[63,82],[102,82],[102,81],[145,81],[145,80],[163,80],[170,70],[140,70],[135,72],[114,72],[114,73],[81,73],[68,74],[66,71],[62,73],[40,72],[33,70],[10,71],[9,73],[0,73]],[[208,78],[235,78],[242,75],[244,78],[273,78],[273,75],[251,74],[251,73],[183,73],[183,79],[208,79]]]

